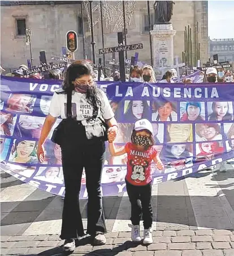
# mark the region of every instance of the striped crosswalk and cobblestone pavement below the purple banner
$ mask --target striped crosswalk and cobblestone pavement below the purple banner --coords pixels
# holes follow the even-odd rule
[[[234,256],[234,171],[153,186],[153,244],[131,242],[127,195],[103,198],[107,244],[77,241],[71,255]],[[86,203],[81,212],[86,228]],[[1,255],[62,256],[63,199],[1,173]],[[142,226],[141,226],[142,232]]]

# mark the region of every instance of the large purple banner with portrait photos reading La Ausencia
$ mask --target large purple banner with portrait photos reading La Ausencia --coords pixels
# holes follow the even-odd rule
[[[1,168],[63,196],[61,150],[51,142],[52,132],[45,142],[46,161],[39,163],[36,154],[51,96],[61,85],[58,80],[1,77]],[[131,141],[137,119],[153,124],[155,146],[165,166],[159,171],[153,165],[153,184],[234,157],[233,83],[98,82],[98,86],[107,93],[118,120],[116,147]],[[112,157],[107,146],[101,180],[104,196],[125,191],[126,163],[127,156]],[[80,198],[87,198],[85,172],[81,183]]]

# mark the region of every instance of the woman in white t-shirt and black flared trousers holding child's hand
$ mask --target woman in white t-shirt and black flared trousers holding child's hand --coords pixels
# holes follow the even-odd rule
[[[88,191],[87,234],[94,238],[95,245],[106,243],[105,217],[102,210],[101,173],[105,161],[103,140],[103,117],[108,132],[113,138],[118,132],[114,112],[106,94],[93,83],[92,66],[86,61],[75,61],[67,69],[63,88],[56,91],[51,100],[49,115],[38,142],[38,158],[45,159],[44,142],[58,116],[64,119],[65,129],[60,139],[64,175],[65,198],[60,238],[65,240],[63,250],[74,251],[75,239],[84,236],[81,219],[79,192],[83,169],[86,173]],[[66,119],[67,96],[72,98],[73,121]],[[69,113],[70,112],[70,113]],[[68,122],[68,121],[71,122]],[[66,122],[67,121],[67,122]],[[61,123],[62,123],[61,122]]]

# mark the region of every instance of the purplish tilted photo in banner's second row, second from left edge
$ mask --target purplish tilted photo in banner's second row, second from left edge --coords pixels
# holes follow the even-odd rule
[[[45,117],[20,115],[16,125],[16,136],[25,139],[39,139]]]

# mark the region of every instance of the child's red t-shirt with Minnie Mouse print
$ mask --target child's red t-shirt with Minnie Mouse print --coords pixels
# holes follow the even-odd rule
[[[144,186],[152,181],[151,163],[158,152],[154,146],[146,150],[139,150],[135,144],[128,142],[125,145],[125,151],[128,154],[127,182],[135,186]]]

